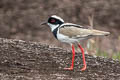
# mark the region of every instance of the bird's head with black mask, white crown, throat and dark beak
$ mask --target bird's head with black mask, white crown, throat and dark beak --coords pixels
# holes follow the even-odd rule
[[[47,24],[53,31],[63,23],[64,23],[64,20],[62,18],[56,15],[52,15],[48,18],[47,22],[42,23],[42,25]]]

